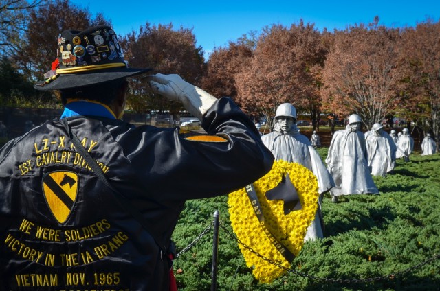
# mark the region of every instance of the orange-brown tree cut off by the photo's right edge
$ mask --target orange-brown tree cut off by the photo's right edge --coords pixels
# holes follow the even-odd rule
[[[404,108],[415,113],[423,131],[440,138],[440,21],[427,19],[404,30],[402,58],[406,71],[407,98]]]

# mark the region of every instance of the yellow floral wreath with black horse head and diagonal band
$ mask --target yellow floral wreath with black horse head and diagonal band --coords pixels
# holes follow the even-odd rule
[[[287,173],[298,192],[302,209],[285,215],[283,200],[267,200],[265,193],[276,187]],[[304,245],[307,227],[314,220],[318,208],[319,194],[316,176],[303,165],[278,160],[274,162],[269,173],[254,182],[254,188],[261,204],[267,229],[289,251],[298,255]],[[289,261],[277,250],[261,228],[244,188],[229,194],[228,205],[232,229],[239,240],[263,257],[290,268]],[[246,265],[253,268],[254,277],[261,283],[270,283],[285,272],[282,268],[256,256],[241,244],[239,248]]]

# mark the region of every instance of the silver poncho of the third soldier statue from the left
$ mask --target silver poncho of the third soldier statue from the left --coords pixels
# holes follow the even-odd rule
[[[385,176],[395,167],[396,145],[387,132],[371,130],[365,135],[368,165],[373,176]]]

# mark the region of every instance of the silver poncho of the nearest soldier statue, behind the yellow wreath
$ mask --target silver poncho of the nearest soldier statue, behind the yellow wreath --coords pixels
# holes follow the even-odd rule
[[[263,135],[261,139],[265,146],[274,154],[276,160],[299,163],[311,170],[318,179],[318,191],[320,194],[328,191],[335,185],[318,152],[311,146],[309,139],[305,135],[300,134],[296,124],[288,132],[283,132],[279,125],[275,124],[274,131]],[[305,241],[316,237],[324,237],[320,201],[318,201],[318,204],[319,209],[316,212],[316,218],[307,229]]]

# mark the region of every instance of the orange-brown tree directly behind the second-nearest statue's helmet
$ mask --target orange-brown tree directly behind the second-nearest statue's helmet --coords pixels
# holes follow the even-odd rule
[[[357,113],[367,127],[393,111],[401,88],[400,31],[373,23],[336,31],[322,72],[326,108],[345,117]]]

